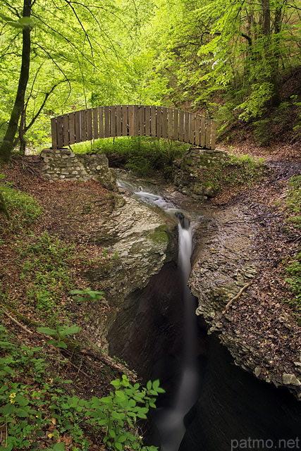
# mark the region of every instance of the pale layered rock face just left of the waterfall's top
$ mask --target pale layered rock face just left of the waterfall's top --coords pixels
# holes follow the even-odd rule
[[[92,268],[85,275],[95,286],[106,292],[106,299],[111,306],[109,318],[100,317],[97,311],[93,315],[93,335],[100,341],[106,338],[107,331],[120,311],[127,311],[123,333],[125,328],[131,327],[132,310],[141,308],[137,292],[147,286],[164,264],[176,258],[176,217],[135,199],[121,199],[122,205],[113,210],[109,221],[106,219],[102,222],[102,218],[99,220],[99,244],[104,245],[114,257],[109,265]],[[142,323],[139,326],[144,327]],[[111,334],[110,341],[113,339]],[[126,338],[122,338],[120,333],[116,340],[125,346]]]

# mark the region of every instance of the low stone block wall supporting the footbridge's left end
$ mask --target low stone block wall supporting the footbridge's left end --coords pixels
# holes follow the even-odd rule
[[[49,181],[96,180],[108,190],[117,190],[116,175],[105,154],[73,154],[69,149],[43,149],[42,177]]]

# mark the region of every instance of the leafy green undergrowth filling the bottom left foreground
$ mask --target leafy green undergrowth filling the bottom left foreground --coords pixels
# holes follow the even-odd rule
[[[71,330],[72,328],[72,330]],[[65,336],[76,333],[75,327],[61,330]],[[41,328],[45,331],[46,328]],[[47,329],[45,333],[54,334]],[[0,427],[2,435],[0,450],[34,450],[49,426],[55,424],[49,440],[58,442],[68,434],[81,451],[87,451],[90,442],[85,438],[87,428],[97,435],[99,442],[115,451],[130,447],[132,450],[155,451],[144,447],[142,437],[137,435],[138,419],[145,419],[149,408],[155,407],[155,397],[163,393],[159,381],[147,383],[141,388],[132,385],[126,376],[112,381],[114,390],[108,396],[85,400],[70,396],[63,390],[60,378],[52,379],[42,348],[19,347],[0,325]],[[61,451],[63,443],[53,443],[49,450]],[[74,448],[75,449],[75,448]]]

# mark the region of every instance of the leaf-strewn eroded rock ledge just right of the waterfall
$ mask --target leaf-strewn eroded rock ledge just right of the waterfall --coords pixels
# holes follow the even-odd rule
[[[260,233],[245,205],[205,208],[195,233],[189,285],[199,300],[197,314],[210,331],[218,331],[235,364],[266,382],[285,385],[300,399],[300,326],[283,299],[262,292],[261,271],[269,263],[255,248]]]

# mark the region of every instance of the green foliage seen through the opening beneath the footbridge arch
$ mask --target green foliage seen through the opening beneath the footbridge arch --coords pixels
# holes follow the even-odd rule
[[[185,154],[190,144],[152,137],[119,137],[74,144],[73,152],[105,153],[111,166],[123,166],[136,175],[161,171],[171,176],[173,161]]]

